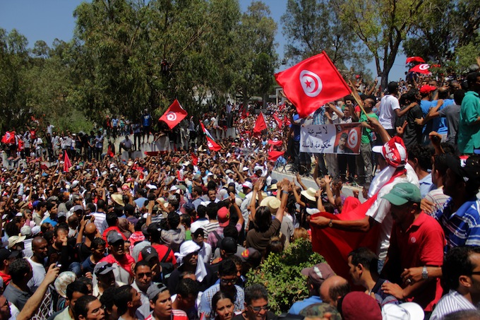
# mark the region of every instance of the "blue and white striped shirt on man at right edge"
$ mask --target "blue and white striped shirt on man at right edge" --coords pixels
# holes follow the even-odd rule
[[[480,199],[476,196],[452,212],[452,200],[447,202],[443,210],[434,213],[445,231],[447,247],[480,246]]]

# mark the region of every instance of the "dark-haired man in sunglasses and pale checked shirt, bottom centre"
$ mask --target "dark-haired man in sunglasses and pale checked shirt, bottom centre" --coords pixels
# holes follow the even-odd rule
[[[241,312],[244,309],[244,290],[239,285],[235,285],[237,275],[234,261],[230,259],[222,261],[218,268],[218,278],[220,278],[220,284],[212,285],[205,290],[200,299],[198,312],[206,318],[210,318],[212,312],[212,297],[219,291],[227,292],[234,297],[234,312]]]

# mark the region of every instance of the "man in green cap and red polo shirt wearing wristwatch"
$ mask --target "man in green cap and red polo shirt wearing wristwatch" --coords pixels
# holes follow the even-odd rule
[[[388,262],[383,273],[392,283],[384,283],[382,290],[399,300],[416,302],[426,313],[442,296],[439,278],[428,279],[426,266],[442,266],[445,234],[435,218],[420,209],[420,189],[414,184],[395,184],[390,193],[383,196],[391,203],[390,214],[394,220]],[[425,267],[422,279],[416,283],[400,280],[404,269]],[[401,285],[398,285],[400,283]]]

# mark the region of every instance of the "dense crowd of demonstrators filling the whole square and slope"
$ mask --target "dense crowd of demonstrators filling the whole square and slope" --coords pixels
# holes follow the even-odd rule
[[[19,131],[0,173],[0,319],[274,319],[248,271],[335,230],[378,232],[376,244],[301,271],[309,297],[287,317],[480,319],[480,73],[350,85],[304,119],[266,105],[260,134],[255,108],[227,102],[199,119],[219,151],[193,118],[172,131],[148,110],[44,147],[51,124]],[[301,126],[349,122],[362,126],[359,155],[300,152]],[[103,146],[129,133],[138,145],[120,152],[151,135],[172,148],[122,161]],[[361,188],[346,196],[345,184]]]

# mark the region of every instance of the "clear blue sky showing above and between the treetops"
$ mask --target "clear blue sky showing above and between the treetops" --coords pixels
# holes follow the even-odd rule
[[[275,37],[277,53],[280,59],[284,56],[286,39],[282,35],[280,17],[287,8],[287,0],[263,0],[270,6],[272,18],[277,22],[278,30]],[[7,32],[12,29],[28,39],[29,47],[33,47],[37,40],[44,40],[51,46],[55,38],[68,42],[73,37],[75,18],[73,10],[83,1],[80,0],[0,0],[0,28]],[[239,0],[242,10],[246,11],[251,0]],[[390,71],[390,81],[404,76],[404,54],[398,54],[395,64]],[[280,70],[286,66],[281,66]],[[373,76],[376,76],[376,68],[373,61],[367,65]]]

